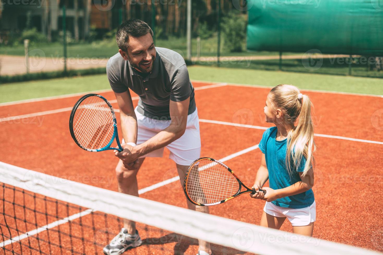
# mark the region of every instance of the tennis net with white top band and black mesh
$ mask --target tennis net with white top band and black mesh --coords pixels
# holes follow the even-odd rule
[[[103,247],[123,227],[123,219],[137,222],[143,240],[124,254],[195,254],[197,239],[210,242],[213,254],[377,254],[68,183],[3,162],[0,187],[4,254],[103,254]]]

